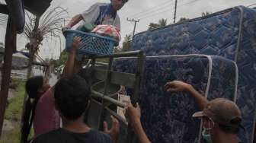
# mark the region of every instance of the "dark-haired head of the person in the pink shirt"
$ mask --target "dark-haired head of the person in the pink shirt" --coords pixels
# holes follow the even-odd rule
[[[34,76],[28,78],[26,82],[26,91],[30,98],[38,98],[50,88],[50,84],[43,76]]]

